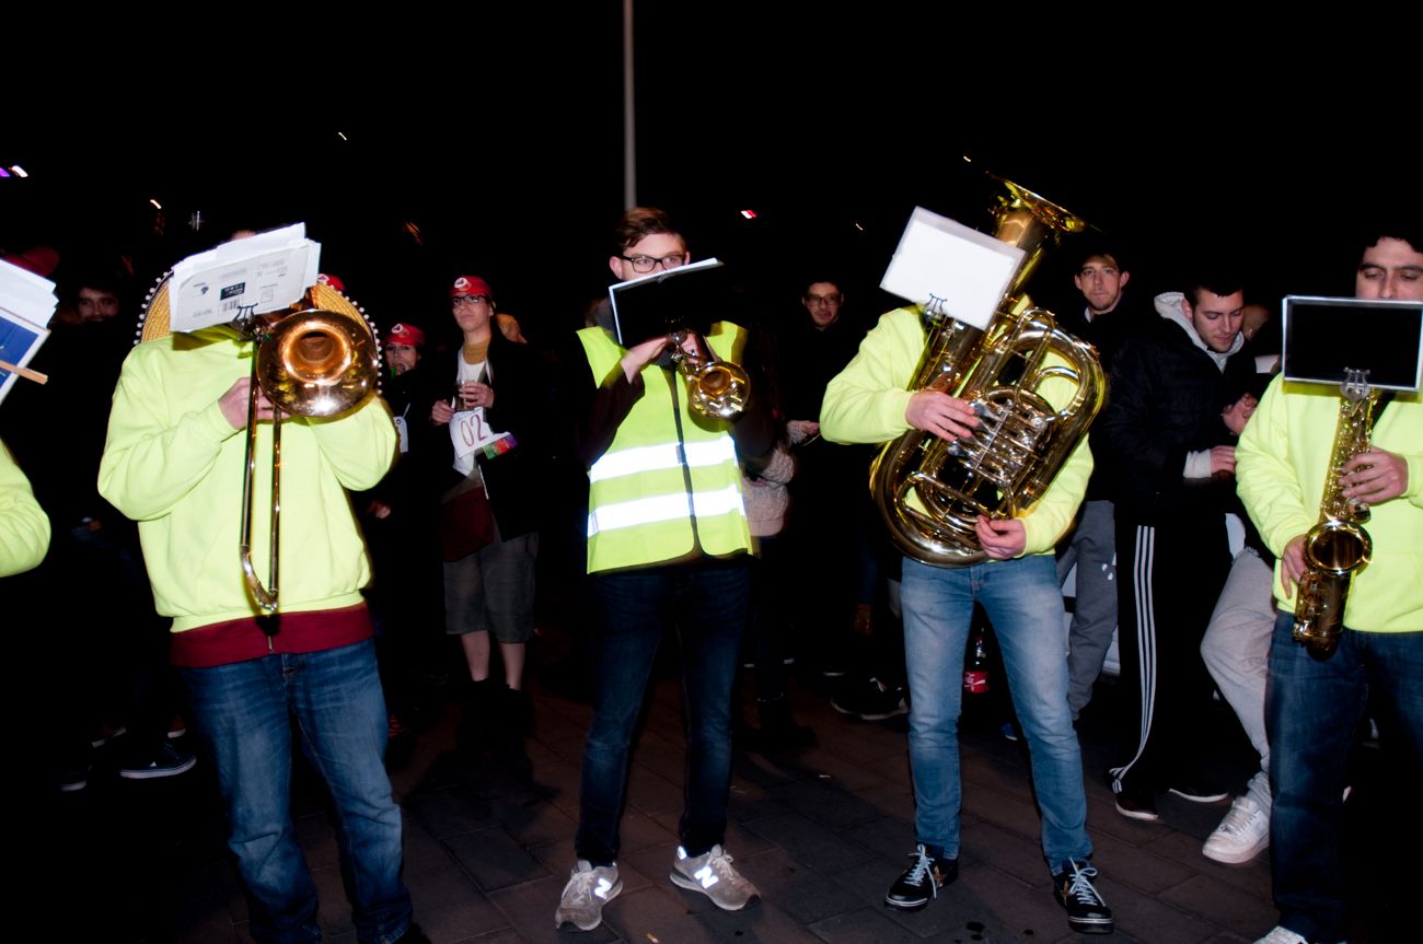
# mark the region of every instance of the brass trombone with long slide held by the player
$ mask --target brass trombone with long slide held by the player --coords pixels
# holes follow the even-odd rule
[[[248,320],[243,330],[256,344],[248,394],[248,446],[242,478],[242,576],[263,614],[277,610],[282,525],[282,414],[339,417],[376,390],[380,361],[366,318],[342,293],[314,284],[280,320]],[[269,512],[268,581],[252,563],[252,481],[256,473],[258,398],[272,402],[272,499]]]

